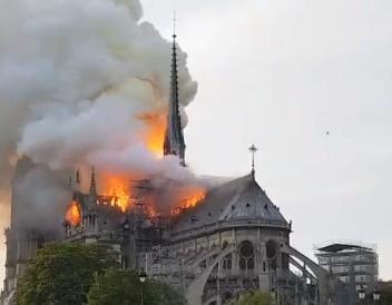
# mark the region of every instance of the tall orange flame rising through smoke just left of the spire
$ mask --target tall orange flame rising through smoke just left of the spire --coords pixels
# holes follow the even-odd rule
[[[166,132],[166,112],[156,111],[149,114],[141,114],[138,116],[145,122],[147,128],[140,135],[141,140],[147,148],[157,157],[163,157],[165,132]]]

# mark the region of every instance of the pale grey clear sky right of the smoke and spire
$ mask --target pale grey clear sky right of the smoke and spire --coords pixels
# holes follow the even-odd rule
[[[378,244],[392,278],[392,2],[143,0],[199,82],[187,157],[200,174],[249,171],[312,255],[329,239]],[[326,136],[330,131],[330,136]]]

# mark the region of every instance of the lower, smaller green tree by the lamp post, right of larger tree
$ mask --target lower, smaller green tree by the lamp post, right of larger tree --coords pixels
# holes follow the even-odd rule
[[[185,305],[186,299],[170,286],[155,281],[139,282],[133,270],[109,269],[96,278],[88,305]]]

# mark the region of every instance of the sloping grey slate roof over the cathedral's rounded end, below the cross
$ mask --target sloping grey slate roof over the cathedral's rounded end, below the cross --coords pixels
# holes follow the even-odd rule
[[[231,180],[209,190],[202,203],[179,216],[173,232],[217,222],[249,219],[287,225],[286,219],[253,175]]]

